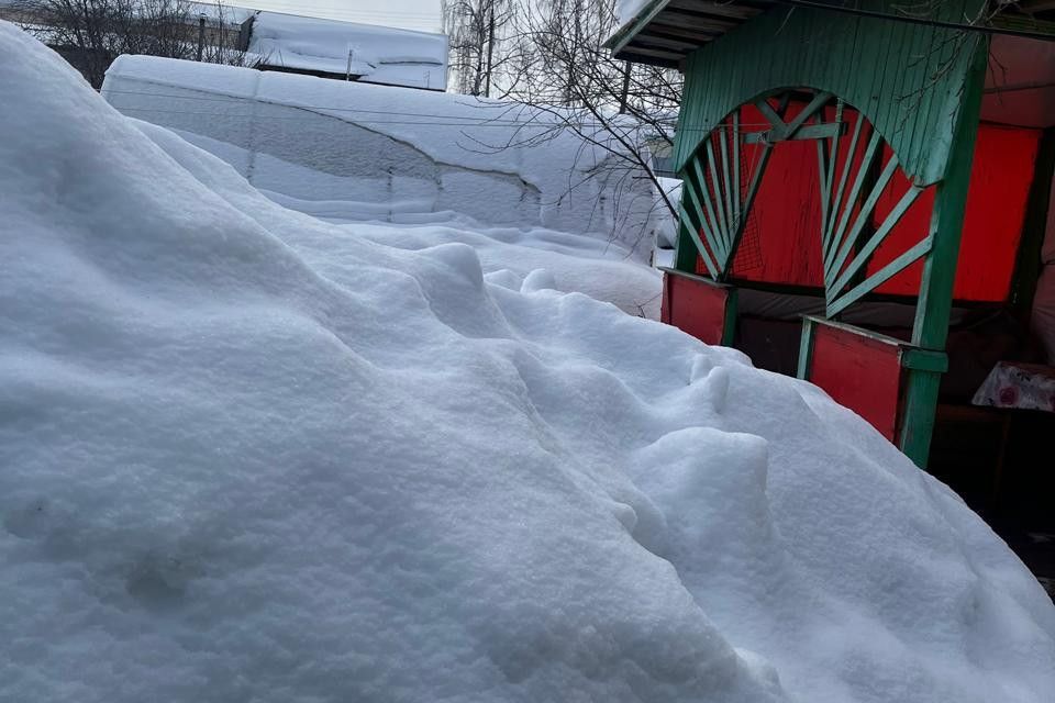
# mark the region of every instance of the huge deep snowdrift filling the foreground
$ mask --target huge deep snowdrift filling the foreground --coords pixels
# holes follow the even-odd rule
[[[7,24],[0,93],[0,700],[1050,701],[1040,585],[820,391],[282,210]]]

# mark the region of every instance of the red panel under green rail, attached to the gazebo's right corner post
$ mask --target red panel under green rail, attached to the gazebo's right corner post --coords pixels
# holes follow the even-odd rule
[[[810,381],[893,442],[901,395],[897,345],[823,324],[813,327]]]

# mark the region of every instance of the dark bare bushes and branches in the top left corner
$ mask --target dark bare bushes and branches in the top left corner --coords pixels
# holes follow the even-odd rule
[[[241,64],[237,25],[221,3],[189,0],[16,0],[23,29],[99,88],[121,54]],[[208,29],[208,32],[204,30]],[[208,42],[208,43],[206,43]]]

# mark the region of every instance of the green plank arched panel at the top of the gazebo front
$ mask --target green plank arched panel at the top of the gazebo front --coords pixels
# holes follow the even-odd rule
[[[934,19],[975,16],[984,0],[946,0]],[[892,3],[865,0],[895,13]],[[689,56],[675,145],[677,170],[740,105],[809,87],[854,105],[918,186],[945,175],[971,57],[984,36],[807,8],[773,10]]]

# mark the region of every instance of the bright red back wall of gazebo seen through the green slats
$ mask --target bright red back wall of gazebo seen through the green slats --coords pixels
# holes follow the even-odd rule
[[[799,109],[801,105],[793,107],[790,115]],[[831,110],[826,119],[833,118]],[[856,112],[847,111],[844,118],[852,130]],[[766,124],[754,107],[742,108],[741,123],[747,131],[760,131]],[[1007,299],[1040,136],[1039,130],[991,124],[979,129],[955,284],[958,300]],[[848,145],[846,136],[843,148]],[[741,169],[745,191],[759,152],[758,146],[747,146],[743,152]],[[858,146],[855,169],[859,168],[863,152],[864,144]],[[888,149],[884,161],[889,157]],[[899,170],[880,197],[874,226],[886,219],[908,187],[908,180]],[[920,196],[876,252],[867,267],[868,274],[879,270],[925,236],[933,202],[934,189],[931,188]],[[745,282],[823,287],[820,233],[817,144],[812,141],[781,143],[774,149],[759,186],[733,260],[733,278]],[[706,274],[702,263],[697,270]],[[918,263],[887,281],[878,292],[914,297],[919,292],[921,271],[922,263]]]

